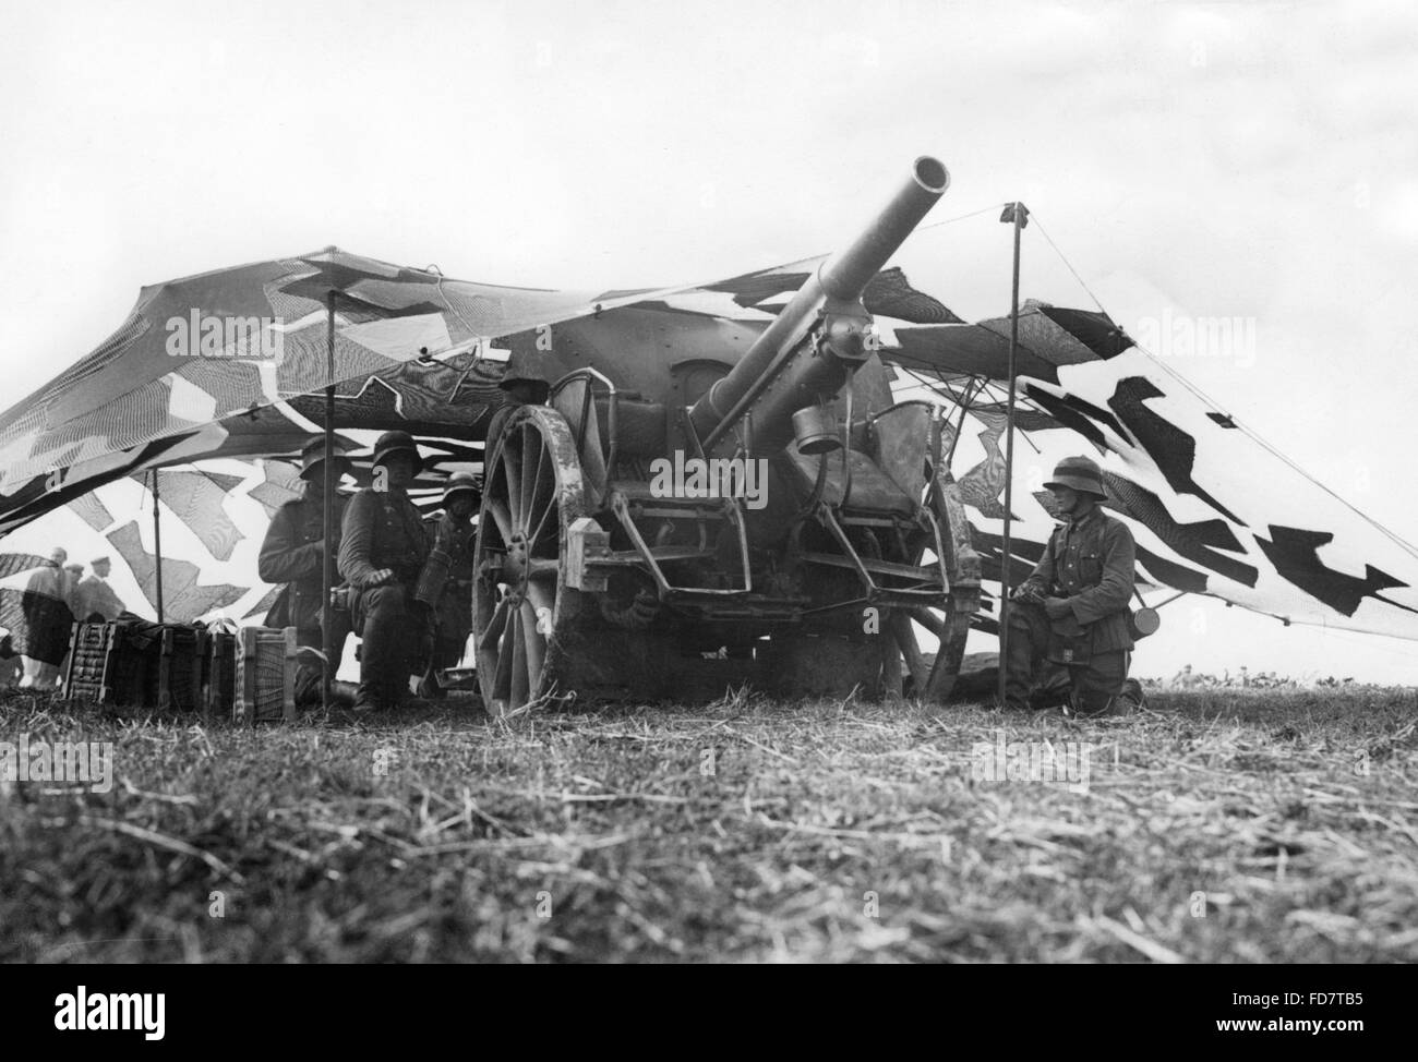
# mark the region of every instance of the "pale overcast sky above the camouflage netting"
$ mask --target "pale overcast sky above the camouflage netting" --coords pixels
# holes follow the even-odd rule
[[[1418,539],[1412,4],[30,4],[0,138],[11,400],[143,284],[328,244],[505,284],[710,279],[831,250],[929,152],[937,214],[1022,199],[1134,335],[1254,319],[1254,357],[1173,367]],[[1052,254],[1028,241],[1027,295]],[[946,302],[1004,312],[995,265]],[[1149,671],[1418,682],[1408,642],[1207,608]]]

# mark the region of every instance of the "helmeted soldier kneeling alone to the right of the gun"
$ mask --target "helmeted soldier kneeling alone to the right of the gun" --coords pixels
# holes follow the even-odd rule
[[[1102,469],[1086,457],[1064,458],[1045,484],[1065,519],[1010,607],[1005,703],[1029,708],[1041,661],[1041,691],[1068,689],[1066,710],[1079,716],[1126,715],[1143,700],[1127,678],[1133,639],[1133,533],[1103,513]],[[1035,691],[1034,706],[1039,706]]]

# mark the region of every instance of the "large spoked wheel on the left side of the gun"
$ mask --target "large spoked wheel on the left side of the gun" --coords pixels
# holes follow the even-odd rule
[[[554,692],[563,678],[562,635],[580,593],[563,587],[562,543],[584,515],[584,493],[574,440],[556,410],[522,407],[488,447],[472,630],[482,702],[501,716]]]

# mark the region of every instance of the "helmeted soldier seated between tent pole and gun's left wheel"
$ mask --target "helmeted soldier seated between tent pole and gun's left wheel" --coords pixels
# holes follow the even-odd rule
[[[428,560],[428,536],[408,485],[423,465],[413,437],[387,431],[374,444],[374,484],[350,499],[340,540],[340,576],[360,647],[354,712],[394,708],[408,695],[424,630],[414,586]]]

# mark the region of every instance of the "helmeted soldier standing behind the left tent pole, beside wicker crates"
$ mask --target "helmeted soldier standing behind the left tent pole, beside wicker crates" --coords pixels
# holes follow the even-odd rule
[[[335,440],[335,484],[350,471],[345,457],[345,440]],[[318,435],[301,451],[301,496],[277,509],[261,543],[257,571],[265,583],[285,583],[284,600],[272,610],[268,622],[272,627],[295,628],[296,642],[309,649],[323,652],[320,635],[320,596],[325,587],[325,437]],[[345,516],[345,499],[336,493],[330,498],[330,518],[335,542],[340,547],[340,520]],[[350,632],[350,615],[346,611],[330,610],[332,645],[335,658],[332,672],[340,665],[345,639]],[[296,671],[295,696],[302,705],[320,700],[323,668],[303,659]]]

